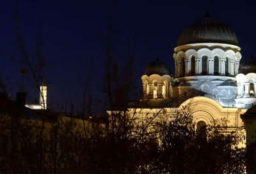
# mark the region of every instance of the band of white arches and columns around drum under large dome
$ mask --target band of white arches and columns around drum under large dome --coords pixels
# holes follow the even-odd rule
[[[185,56],[185,57],[184,57]],[[202,63],[203,57],[207,57],[207,64]],[[192,69],[194,65],[191,62],[191,58],[195,57],[195,69]],[[218,64],[214,64],[214,57],[218,57]],[[191,71],[195,71],[195,75],[202,75],[202,69],[207,69],[207,75],[237,75],[239,68],[239,61],[241,59],[241,54],[239,52],[234,52],[234,50],[223,50],[221,48],[214,48],[210,50],[209,48],[200,48],[198,50],[189,49],[186,51],[179,51],[175,55],[175,59],[179,60],[177,66],[178,68],[176,75],[179,77],[191,75]],[[184,62],[182,60],[184,59]],[[225,62],[228,59],[228,70],[226,72]],[[182,65],[185,63],[185,66]],[[207,66],[206,68],[202,66]],[[185,70],[183,68],[185,67]],[[218,71],[215,70],[217,68]]]

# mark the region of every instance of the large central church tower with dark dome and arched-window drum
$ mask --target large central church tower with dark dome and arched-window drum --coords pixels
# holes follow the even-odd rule
[[[240,50],[234,31],[208,13],[189,24],[174,48],[173,96],[201,92],[222,106],[236,105]]]

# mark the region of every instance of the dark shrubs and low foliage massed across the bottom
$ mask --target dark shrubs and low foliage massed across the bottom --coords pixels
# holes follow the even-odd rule
[[[146,132],[140,131],[145,125],[131,119],[126,119],[126,131],[124,125],[112,131],[65,117],[55,122],[45,118],[42,127],[42,120],[14,113],[1,115],[2,173],[244,172],[245,152],[238,148],[243,137],[223,133],[220,126],[196,131],[188,112],[166,113],[162,116],[171,117],[170,122],[155,121]]]

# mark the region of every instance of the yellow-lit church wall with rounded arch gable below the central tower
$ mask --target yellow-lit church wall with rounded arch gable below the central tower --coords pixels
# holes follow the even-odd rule
[[[177,108],[131,108],[130,115],[134,115],[140,123],[140,126],[145,126],[150,122],[148,131],[154,130],[154,124],[157,122],[170,122],[175,115],[189,114],[193,116],[195,125],[204,121],[206,125],[216,126],[220,124],[221,127],[227,127],[225,133],[229,131],[241,131],[244,133],[243,121],[240,115],[245,113],[246,109],[228,107],[225,108],[217,101],[206,97],[190,98],[182,103]],[[241,142],[244,146],[244,142]]]

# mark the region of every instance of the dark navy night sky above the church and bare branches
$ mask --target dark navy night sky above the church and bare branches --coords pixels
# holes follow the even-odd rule
[[[18,5],[17,5],[18,4]],[[256,55],[255,33],[256,1],[209,2],[209,12],[214,18],[228,24],[236,33],[241,47],[242,61]],[[42,25],[43,48],[49,62],[46,69],[49,96],[52,105],[57,101],[64,105],[72,101],[81,108],[83,83],[93,67],[93,82],[90,93],[97,95],[102,85],[102,57],[99,30],[106,31],[108,18],[116,8],[114,28],[119,30],[118,55],[127,55],[127,45],[137,33],[136,71],[138,85],[145,66],[159,58],[166,62],[174,73],[173,48],[186,25],[205,15],[205,0],[180,1],[1,1],[0,3],[0,52],[8,50],[19,57],[15,49],[15,20],[13,14],[19,9],[19,25],[22,40],[33,51],[38,25]],[[8,92],[15,97],[19,91],[20,65],[10,61],[10,55],[1,56],[0,73],[11,78]],[[27,89],[29,91],[29,88]],[[35,94],[31,94],[35,97]],[[58,108],[58,107],[57,107]]]

